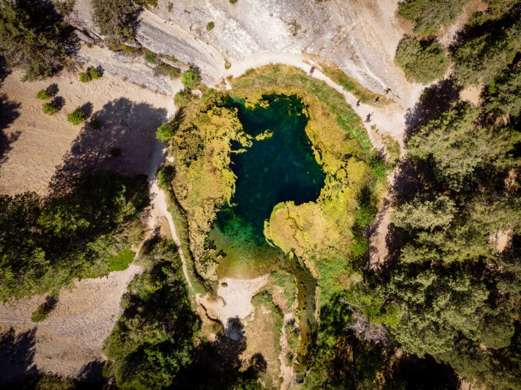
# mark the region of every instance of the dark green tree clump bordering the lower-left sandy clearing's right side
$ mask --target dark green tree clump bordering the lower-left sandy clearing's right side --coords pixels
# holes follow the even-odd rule
[[[172,241],[145,243],[140,261],[150,269],[135,276],[125,308],[107,339],[109,374],[120,389],[160,389],[170,385],[193,359],[200,319],[190,306],[181,260]]]

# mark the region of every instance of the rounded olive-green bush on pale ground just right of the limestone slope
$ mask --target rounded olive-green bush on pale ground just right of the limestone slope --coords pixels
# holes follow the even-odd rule
[[[396,51],[396,62],[410,81],[428,84],[443,77],[449,67],[444,47],[437,41],[405,37]]]

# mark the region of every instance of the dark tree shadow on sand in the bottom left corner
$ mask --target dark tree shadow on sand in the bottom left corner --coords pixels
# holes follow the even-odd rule
[[[37,375],[34,364],[36,327],[16,333],[13,328],[0,334],[0,385],[13,385],[24,376]]]

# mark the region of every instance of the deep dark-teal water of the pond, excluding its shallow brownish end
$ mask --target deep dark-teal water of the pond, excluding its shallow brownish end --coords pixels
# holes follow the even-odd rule
[[[237,175],[232,207],[218,213],[218,226],[225,233],[264,242],[264,221],[279,202],[296,205],[316,200],[324,186],[324,172],[313,157],[304,131],[307,116],[297,96],[264,96],[267,107],[246,109],[243,102],[229,99],[238,109],[247,134],[272,135],[253,141],[246,152],[232,154],[231,169]],[[240,144],[232,144],[235,150]]]

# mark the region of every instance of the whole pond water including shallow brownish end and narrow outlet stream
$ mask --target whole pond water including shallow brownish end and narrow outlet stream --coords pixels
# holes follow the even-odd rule
[[[313,157],[305,127],[308,118],[297,96],[264,96],[266,107],[247,109],[244,102],[224,102],[238,109],[247,134],[257,136],[269,130],[270,137],[253,141],[244,153],[231,155],[231,169],[237,175],[231,206],[217,213],[209,234],[211,245],[220,254],[218,276],[253,278],[278,268],[290,271],[297,281],[301,344],[297,350],[296,372],[307,369],[316,338],[316,280],[296,256],[268,245],[264,221],[274,206],[292,200],[296,205],[313,202],[324,186],[325,174]],[[234,150],[242,149],[233,144]]]

